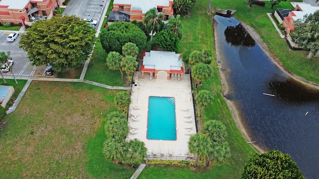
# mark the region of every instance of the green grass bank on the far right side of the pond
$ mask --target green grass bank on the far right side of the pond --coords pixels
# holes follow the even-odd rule
[[[252,8],[248,7],[246,1],[215,0],[212,3],[214,8],[237,10],[235,17],[252,26],[288,70],[319,83],[319,58],[307,59],[308,51],[290,50],[286,40],[280,38],[266,14],[274,12],[277,8],[294,9],[290,1],[282,1],[273,9],[270,8],[270,1],[265,1],[265,6],[253,4]]]

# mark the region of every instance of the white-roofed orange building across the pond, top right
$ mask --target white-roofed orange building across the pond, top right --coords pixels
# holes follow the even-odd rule
[[[297,19],[303,19],[306,14],[311,14],[319,10],[318,6],[312,6],[306,3],[298,3],[293,11],[290,11],[288,16],[283,20],[283,26],[289,34],[294,30],[294,23]],[[280,21],[280,20],[279,20]]]

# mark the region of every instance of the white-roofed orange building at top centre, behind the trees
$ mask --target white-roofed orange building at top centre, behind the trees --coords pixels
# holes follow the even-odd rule
[[[156,7],[158,12],[162,12],[163,20],[168,20],[173,16],[173,0],[114,0],[114,11],[130,12],[130,20],[142,21],[145,13],[151,8]]]

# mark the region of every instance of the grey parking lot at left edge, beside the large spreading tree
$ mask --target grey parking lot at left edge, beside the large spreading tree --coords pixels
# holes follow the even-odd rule
[[[10,52],[10,56],[13,60],[12,72],[14,76],[43,76],[45,66],[35,67],[31,65],[31,62],[26,58],[26,52],[19,49],[20,35],[13,42],[6,40],[9,32],[0,32],[0,51]],[[3,75],[12,75],[12,72],[2,72]]]

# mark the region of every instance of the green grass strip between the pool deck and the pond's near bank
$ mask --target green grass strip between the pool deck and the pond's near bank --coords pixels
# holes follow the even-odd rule
[[[221,0],[220,0],[221,1]],[[215,2],[215,1],[214,1]],[[224,2],[225,3],[225,2]],[[244,2],[243,2],[244,3]],[[246,4],[245,4],[246,5]],[[182,17],[183,38],[179,42],[179,51],[186,60],[193,50],[214,51],[213,30],[211,16],[207,14],[208,1],[197,0],[191,16]],[[237,179],[241,175],[244,164],[256,152],[247,144],[239,132],[231,113],[222,97],[221,82],[216,68],[215,60],[212,62],[214,75],[211,79],[203,82],[199,90],[209,90],[214,95],[214,102],[210,108],[205,109],[204,115],[207,120],[220,120],[227,127],[228,136],[226,141],[231,149],[231,157],[225,164],[213,165],[209,169],[192,170],[183,167],[149,167],[144,169],[139,178],[141,179]],[[204,122],[204,121],[203,121]]]

